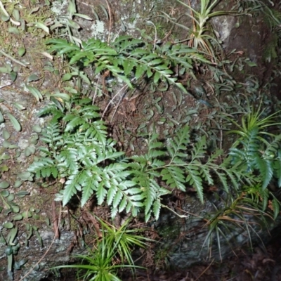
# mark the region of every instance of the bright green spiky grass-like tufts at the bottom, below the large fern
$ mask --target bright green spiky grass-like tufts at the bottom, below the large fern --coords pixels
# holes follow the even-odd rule
[[[55,268],[77,268],[77,277],[89,281],[121,281],[117,276],[120,269],[130,268],[134,273],[136,268],[141,268],[133,264],[131,256],[134,247],[147,246],[145,242],[149,239],[138,235],[141,230],[128,229],[128,220],[119,229],[107,225],[100,219],[99,221],[102,226],[101,237],[96,238],[93,249],[90,249],[87,255],[73,256],[81,260],[81,263]]]

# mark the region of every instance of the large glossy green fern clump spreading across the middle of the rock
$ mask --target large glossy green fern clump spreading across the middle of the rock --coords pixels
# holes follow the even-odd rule
[[[220,161],[221,150],[207,157],[206,138],[192,143],[188,126],[166,143],[157,140],[157,133],[151,133],[148,151],[126,158],[108,138],[105,122],[90,98],[74,95],[68,109],[53,104],[40,112],[47,114],[53,115],[41,137],[47,146],[40,148],[41,157],[28,171],[37,178],[65,178],[64,188],[57,195],[64,206],[77,192],[84,206],[94,193],[98,204],[106,202],[111,207],[112,217],[123,210],[136,216],[144,207],[148,221],[152,212],[159,218],[161,198],[173,188],[185,191],[192,185],[203,202],[205,182],[213,185],[221,181],[228,191],[228,178],[235,188],[242,180],[251,181],[239,165],[230,166],[230,159]],[[160,180],[169,188],[159,184]]]

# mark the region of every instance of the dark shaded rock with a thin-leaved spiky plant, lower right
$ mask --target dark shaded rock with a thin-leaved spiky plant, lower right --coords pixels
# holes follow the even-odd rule
[[[256,242],[266,243],[276,222],[258,213],[251,214],[242,202],[236,204],[236,215],[232,213],[233,207],[234,204],[224,204],[215,195],[204,205],[196,197],[185,197],[181,215],[187,218],[166,212],[155,223],[162,237],[155,252],[159,257],[165,256],[171,268],[184,269],[197,263],[221,261]]]

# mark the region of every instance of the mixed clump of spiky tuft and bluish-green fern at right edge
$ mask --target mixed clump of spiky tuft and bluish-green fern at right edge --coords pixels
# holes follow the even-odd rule
[[[265,108],[261,110],[261,104],[258,109],[249,107],[249,112],[242,117],[242,125],[231,120],[239,138],[230,148],[232,163],[242,163],[242,169],[257,176],[256,185],[246,188],[251,195],[260,196],[263,202],[263,209],[268,205],[268,185],[275,181],[277,187],[281,187],[281,134],[269,133],[268,128],[280,126],[277,117],[280,112],[265,116]],[[280,203],[273,197],[273,209],[275,217],[279,213]]]

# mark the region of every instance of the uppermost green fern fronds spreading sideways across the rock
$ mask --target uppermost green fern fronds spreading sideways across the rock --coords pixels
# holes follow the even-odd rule
[[[164,89],[169,84],[175,84],[187,93],[183,85],[176,81],[177,78],[173,77],[174,68],[179,67],[179,73],[188,72],[195,78],[194,63],[211,63],[196,49],[185,44],[166,43],[157,46],[129,36],[117,37],[111,44],[89,39],[81,42],[81,47],[65,39],[51,39],[48,44],[51,44],[50,52],[65,55],[70,65],[76,63],[81,68],[91,66],[94,74],[110,71],[131,88],[140,79],[146,78],[150,79],[151,84],[164,84]]]

